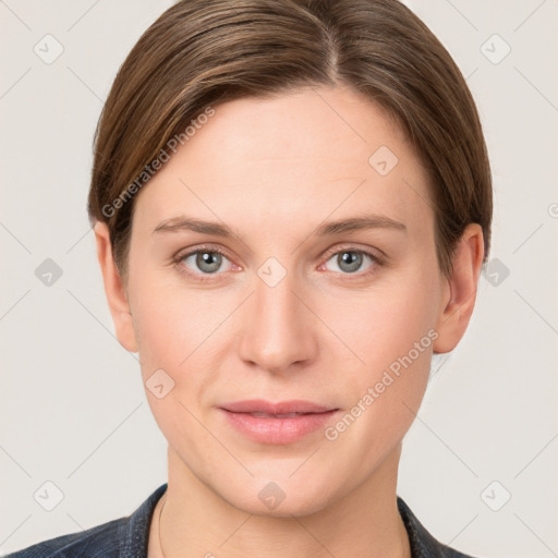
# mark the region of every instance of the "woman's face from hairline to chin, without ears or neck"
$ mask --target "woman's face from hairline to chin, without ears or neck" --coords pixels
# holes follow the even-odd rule
[[[214,108],[135,199],[128,349],[171,466],[302,515],[397,466],[422,400],[449,292],[427,178],[350,89]]]

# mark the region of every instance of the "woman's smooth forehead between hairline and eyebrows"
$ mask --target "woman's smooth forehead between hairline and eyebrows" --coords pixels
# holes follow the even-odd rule
[[[374,211],[428,226],[425,172],[393,120],[347,88],[218,105],[144,186],[134,216],[153,230],[181,213],[235,228],[316,226]],[[427,219],[425,219],[427,217]]]

